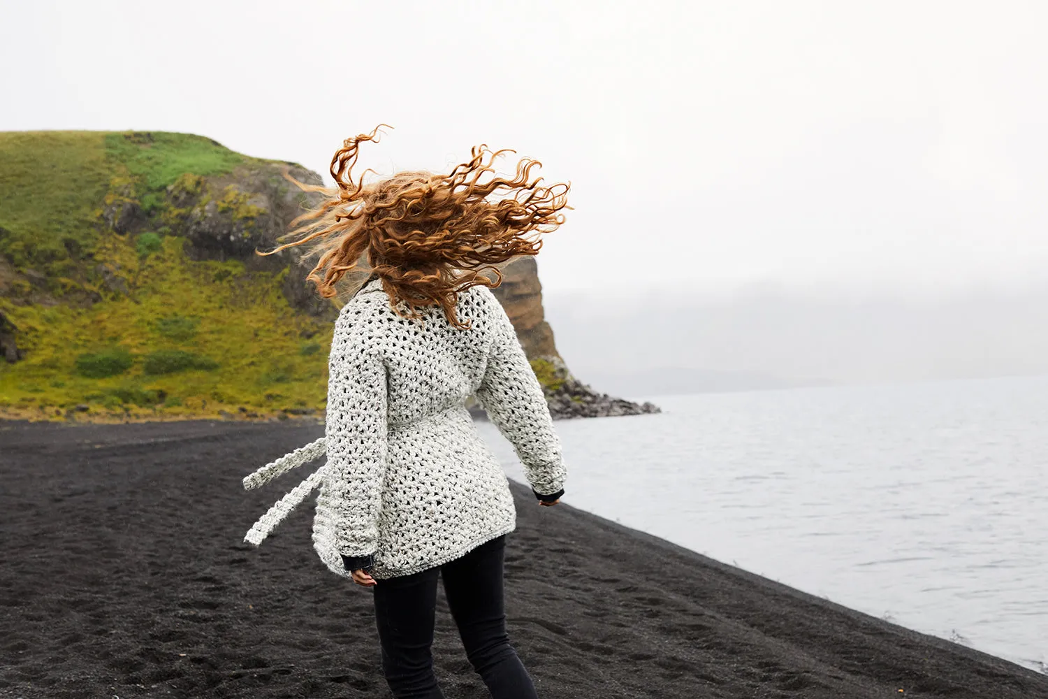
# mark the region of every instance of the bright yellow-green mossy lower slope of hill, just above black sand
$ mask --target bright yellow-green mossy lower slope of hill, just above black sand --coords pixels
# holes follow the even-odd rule
[[[280,275],[187,261],[175,237],[132,272],[131,296],[90,308],[3,306],[29,342],[25,359],[0,368],[0,414],[51,419],[84,403],[96,419],[155,419],[324,405],[330,337],[288,307]]]

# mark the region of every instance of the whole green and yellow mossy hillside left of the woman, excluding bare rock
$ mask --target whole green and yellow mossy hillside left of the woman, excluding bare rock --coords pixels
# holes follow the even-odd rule
[[[183,250],[185,196],[270,161],[167,133],[0,133],[0,255],[43,276],[47,294],[35,303],[17,280],[0,297],[25,353],[0,363],[0,416],[56,419],[78,405],[92,420],[323,407],[329,327],[288,305],[287,269]],[[237,219],[261,213],[235,187],[213,196]],[[119,234],[106,214],[123,203],[146,218]]]

